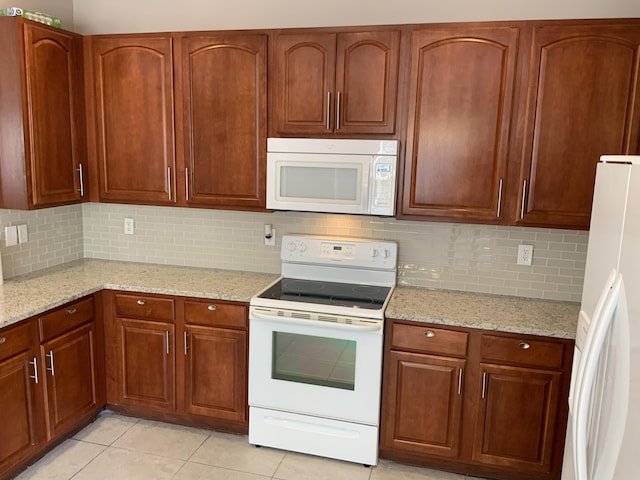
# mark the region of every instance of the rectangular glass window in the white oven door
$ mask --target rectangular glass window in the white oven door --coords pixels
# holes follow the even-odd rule
[[[356,341],[273,332],[271,377],[354,390]]]

